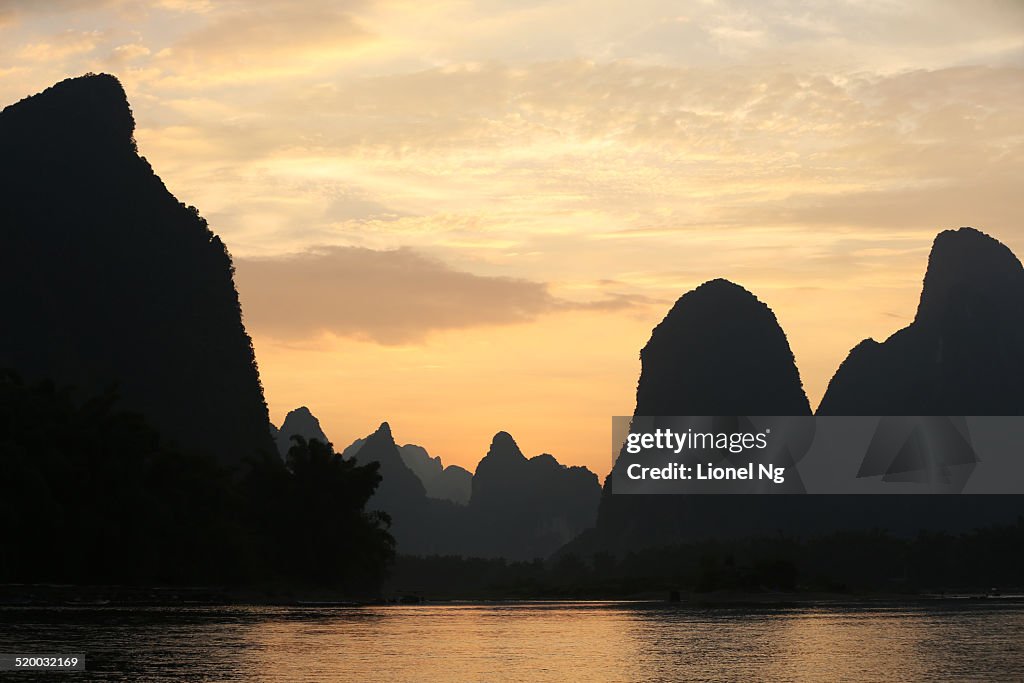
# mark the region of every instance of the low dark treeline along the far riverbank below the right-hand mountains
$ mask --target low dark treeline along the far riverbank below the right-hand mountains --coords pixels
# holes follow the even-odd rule
[[[398,556],[389,588],[447,598],[638,598],[683,593],[987,593],[1024,588],[1024,519],[950,535],[882,530],[703,541],[544,562]]]

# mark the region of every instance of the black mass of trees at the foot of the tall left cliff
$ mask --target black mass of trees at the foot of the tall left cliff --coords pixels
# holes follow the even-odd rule
[[[297,438],[227,469],[169,446],[111,390],[0,372],[0,583],[330,587],[373,593],[394,542],[376,464]]]

